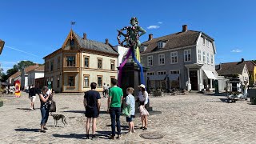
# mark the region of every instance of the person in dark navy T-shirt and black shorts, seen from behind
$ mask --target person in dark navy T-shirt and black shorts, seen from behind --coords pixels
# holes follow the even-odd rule
[[[99,110],[101,107],[100,94],[96,91],[97,84],[92,82],[90,84],[91,90],[86,91],[84,96],[84,106],[86,108],[86,138],[89,139],[90,122],[92,120],[92,138],[95,138],[96,131],[96,118],[98,118]]]

